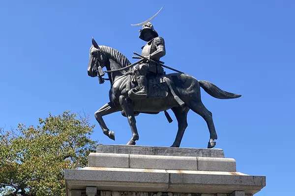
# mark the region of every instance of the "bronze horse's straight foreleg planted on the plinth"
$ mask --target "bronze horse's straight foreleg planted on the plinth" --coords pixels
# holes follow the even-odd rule
[[[136,121],[134,117],[134,107],[132,105],[132,102],[129,99],[125,98],[124,96],[119,97],[119,102],[128,119],[128,123],[132,131],[132,138],[131,140],[129,140],[127,145],[135,145],[135,141],[139,140],[139,136],[138,136]]]

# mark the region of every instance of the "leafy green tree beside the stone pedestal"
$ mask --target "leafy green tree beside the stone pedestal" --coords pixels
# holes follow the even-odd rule
[[[19,124],[0,130],[0,195],[64,196],[64,169],[87,166],[97,141],[90,139],[89,118],[69,111],[39,119],[36,127]]]

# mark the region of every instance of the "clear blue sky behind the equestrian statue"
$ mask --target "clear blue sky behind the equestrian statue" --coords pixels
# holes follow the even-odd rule
[[[139,27],[163,6],[152,23],[166,41],[171,67],[221,89],[242,94],[221,100],[202,90],[213,113],[216,148],[235,158],[237,171],[266,175],[257,196],[294,193],[295,1],[293,0],[1,0],[0,126],[37,124],[51,112],[90,115],[108,102],[108,82],[87,75],[93,36],[99,45],[125,54],[141,51]],[[166,70],[167,71],[167,70]],[[170,73],[169,71],[167,71]],[[137,145],[170,146],[177,122],[163,113],[137,117]],[[126,118],[105,118],[116,142],[95,127],[94,139],[125,144]],[[146,123],[146,122],[149,123]],[[150,123],[152,122],[152,123]],[[181,147],[207,147],[205,121],[192,111]]]

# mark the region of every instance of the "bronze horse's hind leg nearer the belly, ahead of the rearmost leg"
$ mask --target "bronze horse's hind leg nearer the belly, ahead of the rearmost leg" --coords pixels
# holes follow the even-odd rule
[[[184,131],[187,127],[187,113],[189,111],[189,107],[187,106],[178,106],[178,107],[173,107],[171,110],[174,112],[175,117],[177,119],[178,123],[178,131],[177,135],[175,138],[175,141],[171,147],[179,147]]]

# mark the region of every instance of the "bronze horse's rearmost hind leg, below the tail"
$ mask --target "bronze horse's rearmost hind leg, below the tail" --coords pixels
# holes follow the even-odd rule
[[[216,134],[215,126],[213,123],[212,113],[209,110],[207,110],[207,108],[204,106],[201,100],[200,101],[190,100],[188,105],[191,110],[193,110],[195,113],[202,116],[207,123],[208,129],[210,132],[210,140],[208,142],[207,148],[215,147],[216,142],[214,140],[217,140],[217,134]]]

